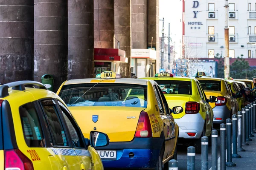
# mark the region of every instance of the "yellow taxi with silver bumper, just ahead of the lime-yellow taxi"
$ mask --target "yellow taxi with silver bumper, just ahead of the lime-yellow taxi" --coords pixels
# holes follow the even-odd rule
[[[218,101],[210,103],[214,119],[213,123],[216,128],[220,128],[218,124],[226,123],[227,118],[231,118],[234,113],[237,113],[239,104],[232,96],[232,91],[226,79],[196,77],[207,97],[216,96]]]

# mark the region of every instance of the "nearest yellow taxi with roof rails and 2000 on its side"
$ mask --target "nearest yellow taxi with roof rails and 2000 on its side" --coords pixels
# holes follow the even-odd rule
[[[108,136],[93,131],[90,141],[85,139],[63,100],[43,84],[1,85],[0,112],[2,169],[104,169],[92,146],[108,145]]]

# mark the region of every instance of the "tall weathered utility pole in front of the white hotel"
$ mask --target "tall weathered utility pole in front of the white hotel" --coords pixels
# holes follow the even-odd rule
[[[225,78],[230,76],[230,60],[229,60],[229,28],[228,28],[228,0],[225,0],[225,58],[224,58],[224,75]]]

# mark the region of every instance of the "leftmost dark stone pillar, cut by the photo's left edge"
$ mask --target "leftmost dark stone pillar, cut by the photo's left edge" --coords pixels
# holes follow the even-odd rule
[[[0,83],[33,79],[33,0],[0,0]]]

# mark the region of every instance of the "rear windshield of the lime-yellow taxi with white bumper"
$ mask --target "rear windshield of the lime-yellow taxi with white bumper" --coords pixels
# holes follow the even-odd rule
[[[192,95],[190,81],[155,80],[163,94],[187,94]]]

